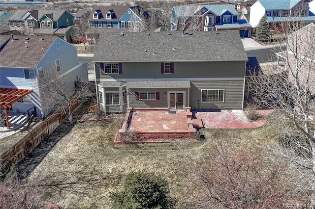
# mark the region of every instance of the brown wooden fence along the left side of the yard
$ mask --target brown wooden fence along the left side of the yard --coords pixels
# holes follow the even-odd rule
[[[75,109],[77,106],[78,104],[74,104],[72,109]],[[46,136],[50,135],[62,124],[64,118],[64,114],[57,113],[44,120],[1,156],[2,163],[12,164],[20,162],[25,157],[24,145],[30,141],[33,150]]]

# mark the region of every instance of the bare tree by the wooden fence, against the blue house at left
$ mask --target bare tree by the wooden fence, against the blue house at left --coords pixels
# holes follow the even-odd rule
[[[55,67],[45,71],[44,75],[38,78],[38,84],[44,108],[63,112],[71,125],[73,125],[72,106],[93,96],[88,82],[75,82],[76,86],[72,90],[74,83],[69,82]]]

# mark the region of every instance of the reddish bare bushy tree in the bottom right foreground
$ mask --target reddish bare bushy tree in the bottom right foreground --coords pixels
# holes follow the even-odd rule
[[[285,163],[246,142],[224,135],[219,138],[206,148],[202,158],[184,161],[186,179],[193,188],[190,192],[199,201],[196,204],[261,209],[282,208],[289,200],[303,200],[303,194],[289,187],[291,177]]]

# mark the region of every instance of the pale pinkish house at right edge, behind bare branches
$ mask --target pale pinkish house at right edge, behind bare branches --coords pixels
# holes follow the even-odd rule
[[[298,75],[299,84],[310,85],[313,95],[315,95],[314,34],[314,23],[304,26],[288,36],[287,51],[277,53],[277,73],[289,71],[288,80],[292,83],[295,81],[293,75]],[[294,52],[290,49],[294,49]]]

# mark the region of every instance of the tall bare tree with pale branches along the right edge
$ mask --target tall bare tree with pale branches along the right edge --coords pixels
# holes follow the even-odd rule
[[[272,25],[279,29],[278,66],[272,73],[261,72],[252,79],[253,99],[262,106],[274,108],[275,130],[281,135],[273,149],[294,163],[309,183],[301,185],[311,191],[315,208],[315,26],[303,26],[303,12],[284,17]]]

